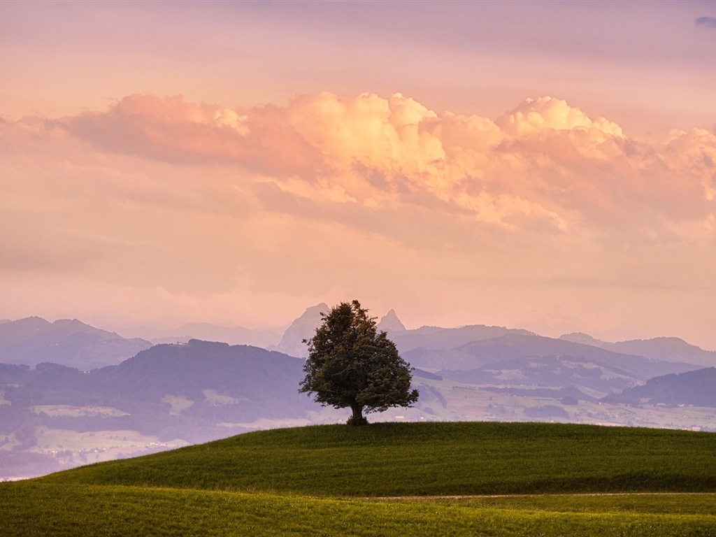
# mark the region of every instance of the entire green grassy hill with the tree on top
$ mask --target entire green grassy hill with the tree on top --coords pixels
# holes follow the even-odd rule
[[[9,536],[707,536],[715,463],[710,433],[329,425],[3,483],[0,511]]]

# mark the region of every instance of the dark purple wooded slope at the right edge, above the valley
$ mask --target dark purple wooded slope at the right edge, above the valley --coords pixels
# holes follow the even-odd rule
[[[612,403],[638,405],[695,405],[716,408],[716,367],[697,369],[680,374],[667,374],[607,396]]]

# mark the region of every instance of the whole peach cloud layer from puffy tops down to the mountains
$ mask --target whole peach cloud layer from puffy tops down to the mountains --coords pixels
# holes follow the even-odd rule
[[[706,316],[716,299],[714,132],[640,142],[558,98],[488,118],[399,93],[245,109],[130,95],[0,122],[0,153],[4,284],[64,286],[58,304],[95,313],[266,324],[279,304],[367,296],[415,316],[613,329],[625,312]],[[607,319],[619,300],[631,306]]]

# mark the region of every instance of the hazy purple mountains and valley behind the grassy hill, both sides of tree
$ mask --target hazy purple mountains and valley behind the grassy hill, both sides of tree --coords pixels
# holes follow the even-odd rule
[[[297,391],[303,340],[328,309],[306,309],[280,338],[274,334],[268,349],[200,339],[153,345],[77,320],[0,321],[0,468],[37,475],[57,469],[58,460],[87,462],[90,449],[104,460],[261,427],[342,421],[340,411]],[[415,408],[393,419],[675,427],[675,418],[654,421],[648,410],[620,417],[615,409],[716,405],[707,397],[716,369],[703,369],[716,364],[716,353],[677,338],[608,343],[502,326],[406,329],[392,310],[378,327],[415,367],[420,390]],[[208,324],[174,333],[197,331],[215,339],[241,334]],[[703,415],[701,423],[687,425],[716,428],[710,419]],[[68,444],[83,447],[68,450]]]

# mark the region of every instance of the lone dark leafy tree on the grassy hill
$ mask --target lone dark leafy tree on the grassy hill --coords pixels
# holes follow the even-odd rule
[[[321,318],[316,335],[304,339],[309,357],[299,392],[315,394],[324,407],[350,407],[348,425],[366,425],[364,410],[383,412],[417,401],[410,364],[385,332],[377,332],[375,319],[357,300],[342,302]]]

